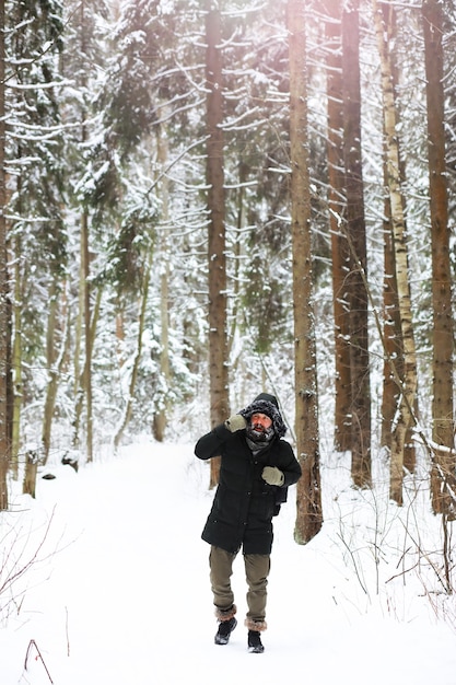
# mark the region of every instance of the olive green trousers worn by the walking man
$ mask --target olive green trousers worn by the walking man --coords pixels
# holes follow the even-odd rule
[[[234,604],[231,588],[233,561],[237,553],[232,554],[220,547],[211,546],[209,555],[210,580],[213,603],[220,612],[226,612]],[[245,554],[244,566],[247,581],[247,623],[261,624],[266,618],[268,576],[271,568],[270,555]]]

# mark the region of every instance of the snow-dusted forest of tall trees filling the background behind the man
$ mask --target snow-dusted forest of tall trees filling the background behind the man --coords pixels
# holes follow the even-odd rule
[[[303,469],[296,543],[349,454],[354,490],[426,488],[451,593],[453,0],[0,21],[0,509],[49,462],[196,439],[265,390]]]

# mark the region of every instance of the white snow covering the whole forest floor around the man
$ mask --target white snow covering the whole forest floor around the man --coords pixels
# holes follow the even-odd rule
[[[0,588],[32,564],[0,594],[1,685],[456,683],[456,606],[439,593],[442,532],[425,492],[397,510],[352,490],[336,462],[323,472],[324,527],[299,546],[292,490],[274,522],[266,651],[250,654],[242,558],[241,620],[213,643],[200,539],[213,494],[192,444],[51,471],[2,518]]]

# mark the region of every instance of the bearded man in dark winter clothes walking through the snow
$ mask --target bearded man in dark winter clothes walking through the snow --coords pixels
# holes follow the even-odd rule
[[[287,488],[301,477],[287,428],[273,395],[261,393],[238,414],[200,438],[195,454],[221,456],[219,485],[202,531],[211,545],[210,581],[219,620],[215,645],[227,645],[237,625],[231,587],[233,561],[242,549],[248,585],[248,651],[261,653],[266,630],[267,584],[272,549],[272,518],[287,501]]]

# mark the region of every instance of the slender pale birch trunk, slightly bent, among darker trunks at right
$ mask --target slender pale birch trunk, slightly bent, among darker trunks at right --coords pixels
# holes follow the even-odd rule
[[[400,190],[400,163],[397,138],[397,115],[394,93],[394,79],[389,59],[388,28],[384,26],[383,13],[373,0],[375,30],[382,65],[382,95],[385,126],[385,154],[388,179],[389,200],[391,206],[391,222],[395,248],[395,266],[397,279],[397,294],[399,301],[400,328],[404,344],[404,382],[397,417],[391,433],[390,461],[390,498],[402,504],[404,480],[404,450],[409,426],[413,421],[413,406],[417,393],[417,355],[414,348],[413,326],[411,318],[411,297],[408,271],[408,254],[404,218],[404,200]],[[394,12],[393,5],[390,12]]]

